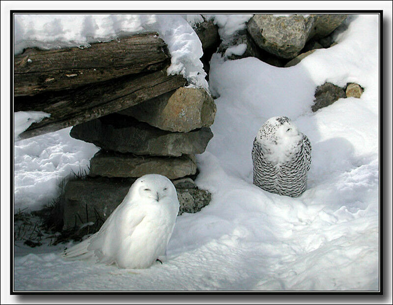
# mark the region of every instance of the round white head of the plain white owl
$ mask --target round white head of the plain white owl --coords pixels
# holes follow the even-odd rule
[[[165,199],[177,199],[173,183],[165,176],[148,174],[138,178],[130,188],[133,198],[139,197],[158,203]]]

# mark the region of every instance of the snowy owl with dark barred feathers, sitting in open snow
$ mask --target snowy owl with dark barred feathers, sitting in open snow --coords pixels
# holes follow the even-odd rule
[[[307,186],[311,146],[287,117],[273,117],[253,142],[253,183],[272,193],[300,196]]]

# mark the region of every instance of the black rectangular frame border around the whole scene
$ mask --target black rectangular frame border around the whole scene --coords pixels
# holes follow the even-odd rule
[[[14,170],[14,15],[15,14],[258,14],[347,13],[379,15],[379,160],[383,162],[383,10],[10,10],[10,162]],[[383,178],[379,163],[379,179]],[[14,172],[10,173],[10,294],[11,295],[383,295],[383,183],[379,181],[379,291],[15,291],[14,290]]]

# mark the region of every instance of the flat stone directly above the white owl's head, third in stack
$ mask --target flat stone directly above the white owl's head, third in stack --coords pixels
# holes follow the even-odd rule
[[[193,155],[180,157],[137,156],[115,152],[97,152],[90,160],[90,176],[141,177],[160,174],[176,179],[197,172]]]

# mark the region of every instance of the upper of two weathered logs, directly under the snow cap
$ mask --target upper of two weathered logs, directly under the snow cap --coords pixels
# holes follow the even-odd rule
[[[94,43],[84,49],[27,49],[14,59],[14,96],[67,90],[160,70],[168,62],[167,45],[154,32]]]

